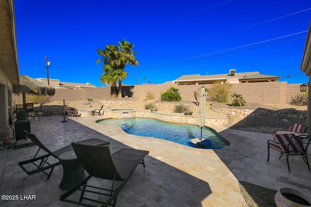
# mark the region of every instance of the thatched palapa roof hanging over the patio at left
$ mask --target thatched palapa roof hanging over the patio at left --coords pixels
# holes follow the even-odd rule
[[[54,96],[55,94],[54,87],[25,75],[19,76],[19,83],[13,85],[13,93],[15,94],[25,93],[48,96]]]

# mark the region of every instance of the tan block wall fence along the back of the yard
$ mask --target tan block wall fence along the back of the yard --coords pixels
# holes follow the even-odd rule
[[[183,100],[195,101],[193,93],[200,91],[201,87],[212,88],[212,84],[205,85],[177,85],[177,84],[157,84],[157,85],[136,85],[123,86],[123,96],[137,99],[145,99],[148,92],[155,95],[155,99],[160,98],[161,92],[165,92],[169,87],[179,89]],[[292,97],[301,94],[300,84],[287,84],[287,82],[258,82],[258,83],[236,83],[232,84],[232,93],[242,94],[247,103],[288,103]],[[51,101],[83,101],[87,98],[93,100],[104,100],[110,97],[110,87],[104,88],[81,88],[62,89],[56,88],[55,95],[50,97]],[[22,95],[14,95],[13,101],[16,104],[22,103]]]

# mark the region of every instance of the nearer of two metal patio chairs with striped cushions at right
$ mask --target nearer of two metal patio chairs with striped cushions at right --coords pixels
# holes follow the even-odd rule
[[[281,153],[279,159],[285,154],[288,171],[290,170],[290,165],[288,162],[289,156],[292,155],[301,155],[302,159],[308,165],[309,171],[309,161],[307,157],[307,149],[311,140],[311,136],[309,135],[298,135],[295,134],[273,134],[274,140],[268,140],[268,159],[270,157],[270,148],[275,149]]]

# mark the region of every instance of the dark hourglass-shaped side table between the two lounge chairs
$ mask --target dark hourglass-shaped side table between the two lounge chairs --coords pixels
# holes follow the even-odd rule
[[[97,138],[83,140],[77,143],[90,144],[90,145],[108,145],[109,142],[100,140]],[[60,163],[63,166],[64,174],[63,179],[59,184],[59,188],[62,190],[70,190],[74,186],[81,182],[82,178],[86,177],[83,167],[80,164],[73,149],[69,152],[65,152],[58,157]]]

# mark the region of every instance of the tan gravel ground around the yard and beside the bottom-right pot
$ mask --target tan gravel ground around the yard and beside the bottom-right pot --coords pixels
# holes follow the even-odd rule
[[[154,102],[155,100],[147,100],[148,102]],[[82,101],[70,101],[66,102],[70,108],[74,109],[100,109],[102,104],[98,100],[94,100],[90,102],[90,105],[83,105],[81,104]],[[127,109],[136,109],[136,110],[145,110],[144,106],[146,101],[137,100],[135,103],[115,107],[115,108],[127,108]],[[207,111],[206,117],[226,117],[224,114],[220,114],[211,110],[208,106],[213,103],[207,102]],[[51,102],[45,104],[45,108],[58,108],[62,107],[63,102]],[[39,105],[35,105],[39,106]],[[224,105],[225,108],[228,108],[227,105]],[[287,130],[289,129],[293,123],[300,123],[306,124],[306,117],[300,116],[299,119],[287,119],[288,121],[284,121],[284,117],[282,114],[279,113],[278,110],[281,109],[290,109],[294,108],[297,110],[299,114],[306,114],[307,107],[306,106],[293,106],[289,104],[251,104],[246,106],[247,109],[257,109],[257,108],[264,108],[273,110],[268,117],[259,117],[259,118],[245,118],[245,119],[238,119],[238,118],[230,118],[229,124],[225,127],[229,127],[235,130],[243,130],[243,131],[252,131],[252,132],[259,132],[259,133],[273,133],[276,129],[278,130]],[[149,110],[146,110],[149,111]],[[193,116],[198,114],[198,106],[195,104],[190,104],[190,111],[193,111]],[[163,113],[174,113],[173,110],[158,110],[158,112]],[[277,191],[267,189],[264,187],[260,187],[251,183],[239,182],[239,186],[241,189],[241,193],[249,207],[276,207],[274,196]]]

